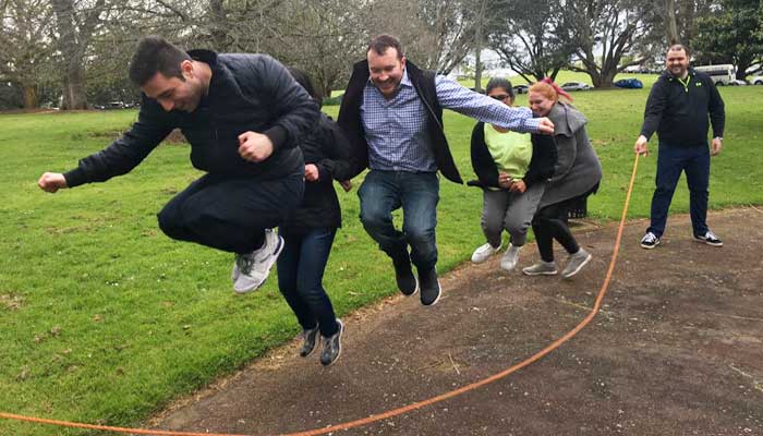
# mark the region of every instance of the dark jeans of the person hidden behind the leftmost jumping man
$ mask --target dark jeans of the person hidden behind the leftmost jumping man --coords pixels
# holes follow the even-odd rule
[[[278,288],[303,329],[315,328],[334,336],[339,326],[331,300],[323,287],[326,262],[337,229],[311,229],[307,233],[280,230],[284,245],[278,256]]]

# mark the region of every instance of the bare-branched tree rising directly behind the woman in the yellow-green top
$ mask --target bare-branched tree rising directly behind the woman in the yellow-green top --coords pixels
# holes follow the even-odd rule
[[[568,23],[561,1],[504,1],[493,12],[500,22],[493,26],[491,48],[528,83],[556,78],[569,63],[573,47],[564,37]]]

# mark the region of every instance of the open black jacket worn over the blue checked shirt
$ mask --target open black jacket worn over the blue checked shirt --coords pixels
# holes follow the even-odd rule
[[[433,71],[420,70],[413,62],[405,61],[408,77],[413,84],[413,88],[421,97],[426,107],[427,130],[431,144],[434,147],[433,155],[437,169],[443,172],[448,180],[456,183],[463,183],[459,174],[456,162],[448,147],[448,140],[443,130],[443,107],[437,101],[437,88],[435,87],[435,73]],[[342,128],[350,144],[352,144],[352,166],[353,177],[368,168],[368,143],[363,132],[361,120],[361,105],[363,104],[363,89],[368,82],[368,62],[355,63],[352,70],[350,83],[342,97],[339,108],[339,126]]]

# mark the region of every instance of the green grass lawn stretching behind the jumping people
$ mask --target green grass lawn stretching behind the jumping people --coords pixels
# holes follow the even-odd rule
[[[605,173],[589,203],[593,219],[619,217],[646,94],[574,94],[591,120],[589,133]],[[722,94],[726,148],[713,160],[711,207],[763,204],[763,190],[753,187],[763,179],[763,87]],[[525,101],[520,96],[518,105]],[[327,108],[335,116],[336,110]],[[186,146],[162,145],[132,173],[107,183],[56,195],[36,186],[41,172],[72,168],[135,114],[0,116],[0,411],[140,424],[173,398],[245,365],[299,330],[276,280],[237,296],[229,254],[171,241],[158,230],[155,214],[199,175],[190,167]],[[445,122],[457,162],[472,178],[468,147],[474,121],[448,112]],[[654,168],[654,156],[640,166],[631,217],[647,216]],[[339,195],[344,228],[325,277],[340,315],[397,292],[389,261],[358,221],[355,191]],[[468,259],[483,242],[481,197],[475,189],[443,179],[440,272]],[[681,185],[671,211],[687,209]],[[0,421],[2,435],[53,433],[83,434]]]

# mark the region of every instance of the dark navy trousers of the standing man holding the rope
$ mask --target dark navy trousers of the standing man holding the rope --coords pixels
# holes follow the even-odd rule
[[[681,171],[689,185],[689,210],[694,234],[707,231],[707,186],[710,183],[710,150],[701,147],[678,147],[659,143],[656,190],[652,196],[652,222],[646,231],[658,238],[665,232],[668,209]]]

